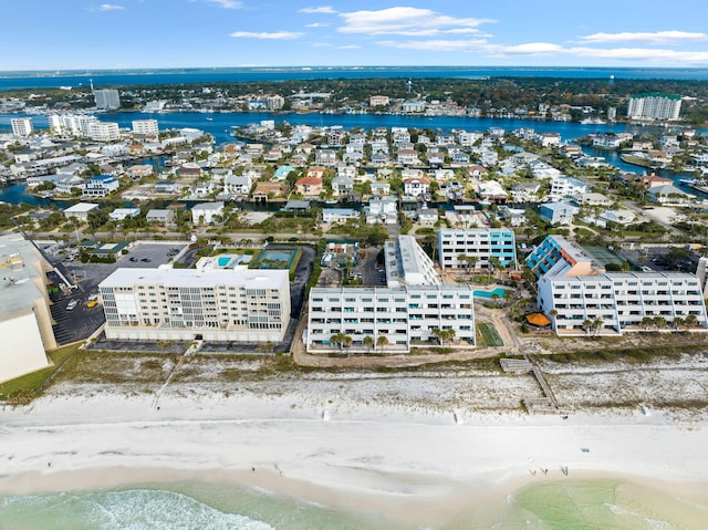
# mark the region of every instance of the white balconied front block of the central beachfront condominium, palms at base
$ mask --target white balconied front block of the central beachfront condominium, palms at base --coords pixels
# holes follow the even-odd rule
[[[470,285],[310,290],[305,344],[312,353],[339,351],[340,344],[332,340],[337,335],[352,339],[351,352],[406,353],[439,344],[436,330],[454,332],[446,341],[451,346],[475,345]]]

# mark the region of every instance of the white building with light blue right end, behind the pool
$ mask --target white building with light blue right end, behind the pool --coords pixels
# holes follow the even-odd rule
[[[438,256],[442,269],[503,267],[517,263],[513,230],[508,228],[442,228],[438,230]]]

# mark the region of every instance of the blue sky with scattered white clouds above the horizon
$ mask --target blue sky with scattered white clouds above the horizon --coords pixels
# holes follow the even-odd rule
[[[2,0],[0,71],[706,66],[708,2]]]

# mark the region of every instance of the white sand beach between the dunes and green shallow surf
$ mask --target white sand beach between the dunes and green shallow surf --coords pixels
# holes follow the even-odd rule
[[[415,377],[371,384],[378,383],[398,398],[385,403],[354,386],[368,383],[344,378],[326,389],[312,381],[268,392],[181,385],[158,401],[59,385],[30,406],[2,409],[0,495],[198,478],[439,524],[527,484],[624,477],[708,506],[704,418],[441,411],[436,399],[400,403],[406,385],[427,392]]]

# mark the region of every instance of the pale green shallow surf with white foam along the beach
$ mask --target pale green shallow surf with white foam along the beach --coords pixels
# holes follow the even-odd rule
[[[0,497],[2,530],[698,530],[707,520],[708,505],[620,480],[555,480],[497,502],[470,499],[441,524],[204,482]]]

